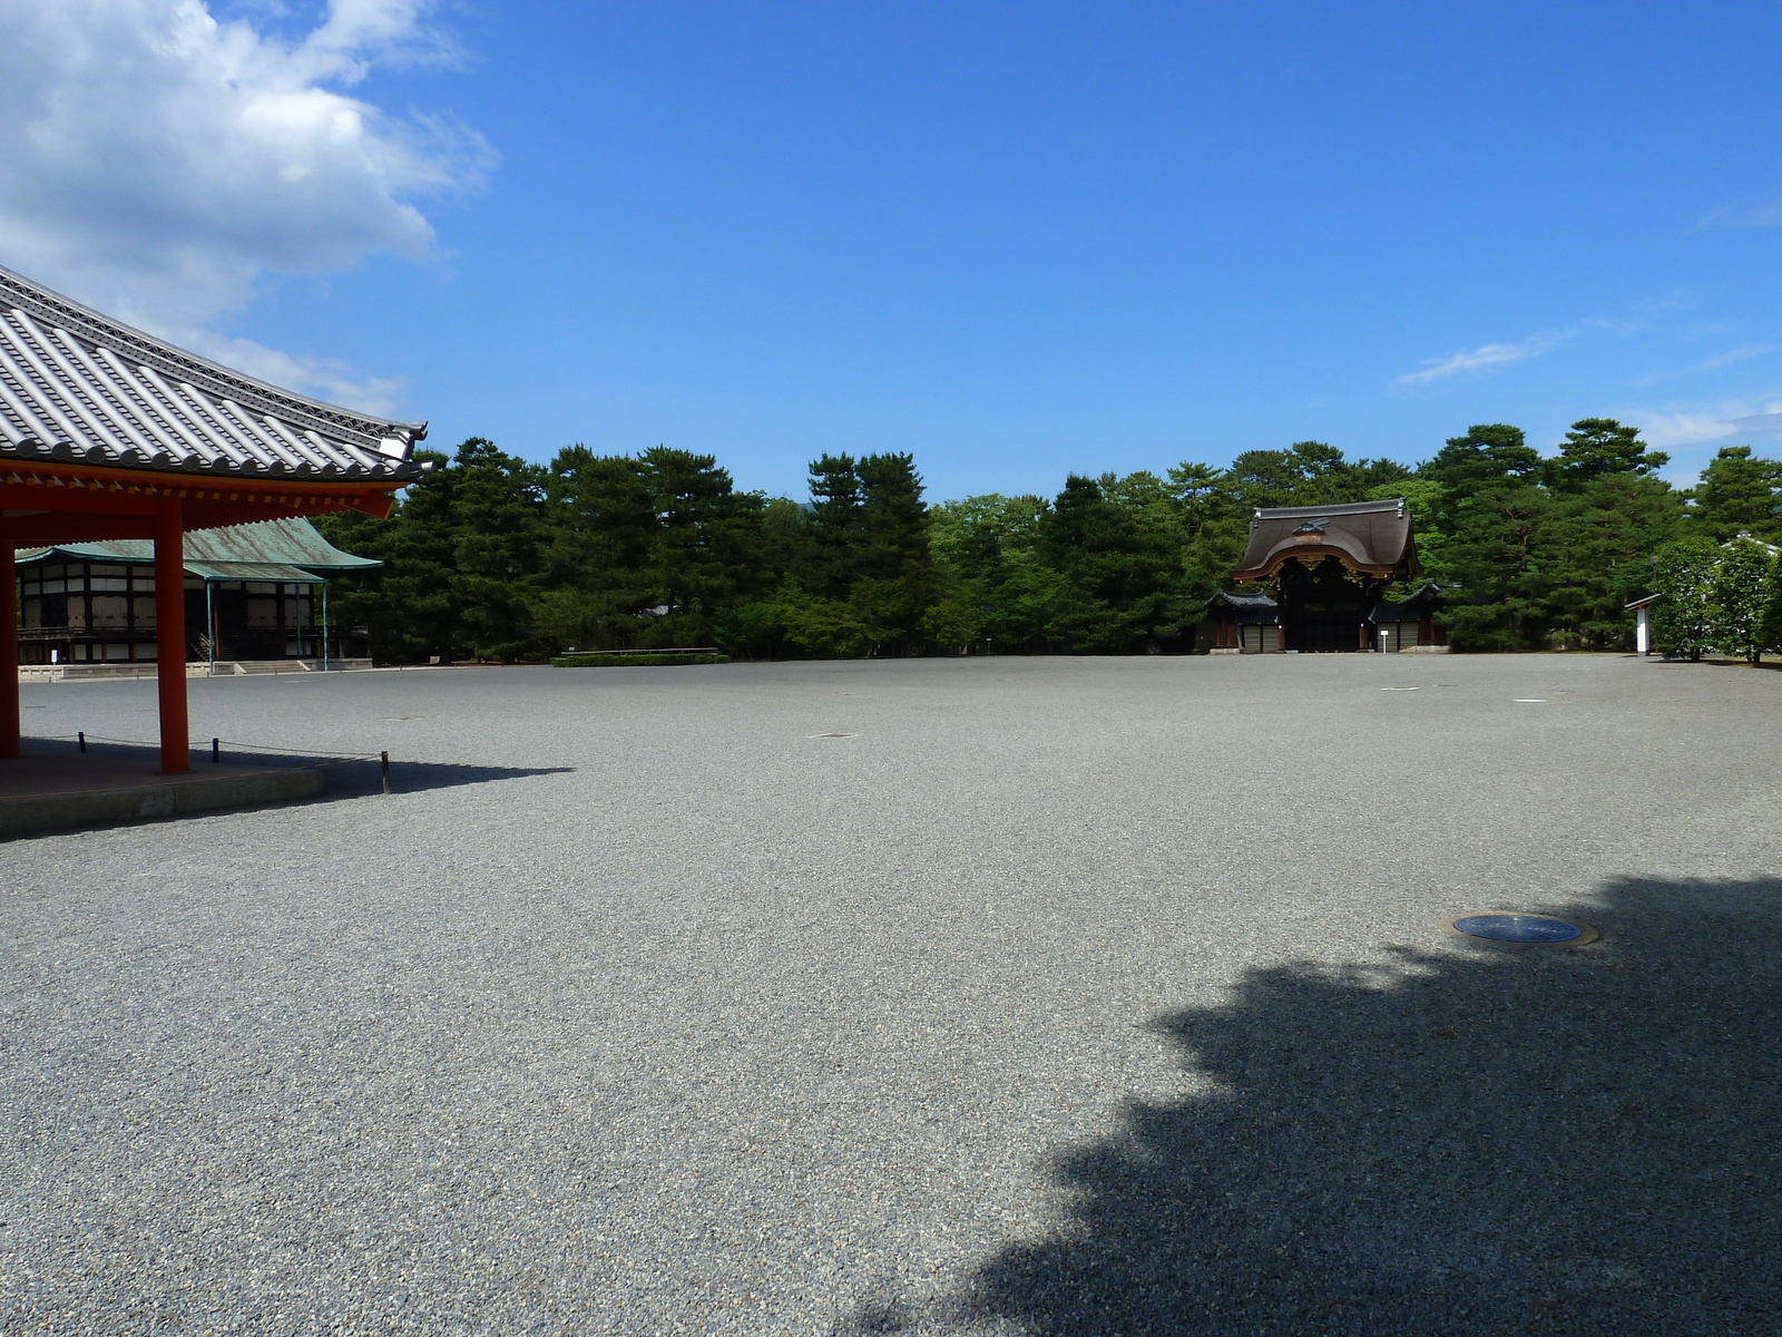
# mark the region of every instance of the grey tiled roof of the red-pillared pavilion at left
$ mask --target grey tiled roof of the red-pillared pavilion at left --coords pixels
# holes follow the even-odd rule
[[[307,399],[0,267],[0,462],[405,481],[426,422]]]

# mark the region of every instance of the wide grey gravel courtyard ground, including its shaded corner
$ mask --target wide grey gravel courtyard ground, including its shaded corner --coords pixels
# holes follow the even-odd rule
[[[1778,672],[415,670],[192,731],[401,792],[0,845],[5,1333],[1782,1332]]]

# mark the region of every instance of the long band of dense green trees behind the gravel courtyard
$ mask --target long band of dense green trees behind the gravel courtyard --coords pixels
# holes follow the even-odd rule
[[[337,620],[369,624],[383,661],[1181,649],[1256,506],[1397,496],[1427,576],[1452,586],[1456,649],[1623,647],[1625,604],[1659,588],[1677,592],[1661,644],[1686,654],[1734,644],[1730,610],[1739,654],[1782,622],[1775,581],[1734,590],[1752,558],[1704,556],[1741,533],[1782,540],[1782,463],[1727,447],[1677,490],[1657,478],[1666,456],[1613,419],[1575,422],[1552,456],[1481,424],[1417,469],[1308,440],[932,508],[909,455],[823,455],[807,501],[738,492],[713,456],[668,447],[572,446],[535,465],[472,439],[429,458],[390,521],[323,522],[387,563],[335,594]]]

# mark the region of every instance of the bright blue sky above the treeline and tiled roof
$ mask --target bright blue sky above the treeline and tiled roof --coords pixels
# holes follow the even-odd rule
[[[1303,439],[1415,462],[1470,422],[1550,446],[1584,415],[1679,480],[1782,453],[1773,7],[212,12],[217,50],[260,43],[253,78],[376,114],[369,194],[340,157],[301,226],[212,244],[258,159],[191,150],[180,198],[214,209],[144,242],[125,193],[69,241],[0,139],[0,264],[440,447],[666,442],[788,494],[820,451],[907,449],[934,497]],[[242,132],[217,105],[205,153]]]

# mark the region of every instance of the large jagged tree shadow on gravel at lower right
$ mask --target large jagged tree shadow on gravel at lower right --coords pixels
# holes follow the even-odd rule
[[[1162,1018],[1214,1093],[1062,1155],[1055,1237],[841,1332],[1782,1332],[1782,879],[1570,913],[1604,941],[1258,970]]]

